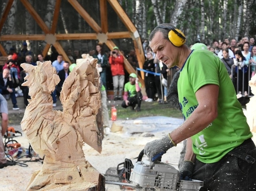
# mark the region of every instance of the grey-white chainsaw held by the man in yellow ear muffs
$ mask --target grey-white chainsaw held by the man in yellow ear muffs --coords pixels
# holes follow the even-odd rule
[[[117,167],[117,173],[125,180],[122,182],[105,181],[107,184],[115,184],[123,187],[131,187],[135,190],[161,190],[161,191],[198,191],[203,186],[199,180],[179,180],[178,170],[161,161],[142,160],[144,149],[140,152],[135,165],[130,159],[125,159]],[[161,159],[160,159],[161,160]],[[124,168],[120,170],[120,165]]]

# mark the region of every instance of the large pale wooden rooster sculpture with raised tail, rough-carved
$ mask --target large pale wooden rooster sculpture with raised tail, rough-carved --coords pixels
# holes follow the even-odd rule
[[[27,191],[104,191],[104,177],[85,160],[83,143],[101,152],[102,137],[95,116],[100,107],[97,59],[80,59],[65,80],[60,100],[63,111],[53,110],[51,92],[59,82],[50,61],[37,66],[21,64],[29,74],[31,100],[21,122],[33,150],[44,157],[33,173]]]

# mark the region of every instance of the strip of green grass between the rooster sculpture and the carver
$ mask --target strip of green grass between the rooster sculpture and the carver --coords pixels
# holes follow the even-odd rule
[[[166,116],[174,118],[182,118],[182,112],[174,109],[170,104],[158,104],[157,101],[145,102],[142,101],[141,111],[136,112],[131,110],[131,107],[123,108],[121,105],[116,105],[117,108],[117,119],[137,119],[140,117],[149,116]],[[109,116],[111,117],[111,108],[109,109]]]

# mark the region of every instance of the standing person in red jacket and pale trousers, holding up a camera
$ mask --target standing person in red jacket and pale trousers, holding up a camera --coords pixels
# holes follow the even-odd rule
[[[110,51],[109,65],[112,72],[114,86],[114,100],[123,100],[123,91],[125,83],[124,57],[120,55],[119,48],[115,46]]]

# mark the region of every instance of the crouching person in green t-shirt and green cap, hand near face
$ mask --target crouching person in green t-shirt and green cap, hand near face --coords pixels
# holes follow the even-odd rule
[[[131,73],[129,76],[129,82],[125,84],[124,88],[124,101],[122,103],[123,108],[131,106],[132,110],[140,111],[142,94],[141,83],[138,81],[139,79],[137,78],[137,75],[135,73]]]

